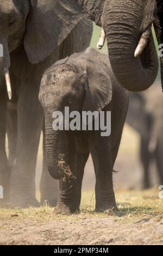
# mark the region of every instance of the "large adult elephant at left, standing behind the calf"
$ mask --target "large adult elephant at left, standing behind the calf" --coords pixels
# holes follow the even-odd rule
[[[37,206],[35,165],[44,119],[38,100],[42,74],[58,59],[89,46],[92,24],[83,20],[76,3],[66,0],[0,0],[0,21],[0,43],[4,48],[4,58],[0,58],[0,182],[4,187],[1,202],[9,200],[12,183],[11,203]],[[9,160],[13,166],[5,151],[7,69],[12,86],[10,103],[17,104],[17,114],[12,109],[15,105],[10,104],[8,111]],[[54,200],[56,187],[56,182],[49,181],[43,173],[42,201]]]

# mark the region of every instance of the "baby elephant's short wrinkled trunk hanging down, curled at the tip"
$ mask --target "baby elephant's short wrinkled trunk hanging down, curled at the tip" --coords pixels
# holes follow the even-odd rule
[[[53,131],[52,113],[45,117],[45,135],[46,135],[46,163],[49,174],[54,179],[61,179],[64,174],[59,168],[59,132]]]

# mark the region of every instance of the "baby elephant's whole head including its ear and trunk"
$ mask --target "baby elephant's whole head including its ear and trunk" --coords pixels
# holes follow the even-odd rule
[[[102,111],[112,97],[108,56],[88,48],[54,64],[42,77],[39,100],[45,112],[46,161],[55,179],[63,178],[58,168],[60,132],[53,129],[54,113]],[[55,116],[56,118],[56,116]]]

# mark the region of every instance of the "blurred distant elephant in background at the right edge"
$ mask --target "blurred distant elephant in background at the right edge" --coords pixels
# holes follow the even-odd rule
[[[155,160],[160,185],[163,184],[163,101],[161,89],[152,87],[143,93],[131,93],[127,123],[139,132],[140,159],[143,166],[143,188],[151,186],[149,167]]]

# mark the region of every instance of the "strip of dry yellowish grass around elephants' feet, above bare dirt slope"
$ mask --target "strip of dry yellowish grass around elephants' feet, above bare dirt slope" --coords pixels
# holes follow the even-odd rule
[[[163,200],[158,198],[159,191],[156,188],[146,191],[117,191],[116,200],[119,211],[114,214],[115,219],[131,220],[132,218],[158,217],[163,215]],[[53,208],[49,207],[46,202],[41,208],[28,208],[28,209],[0,209],[0,220],[12,220],[16,215],[18,219],[30,219],[33,221],[49,221],[61,220],[64,218],[96,218],[108,217],[113,215],[110,211],[103,213],[95,212],[95,194],[92,192],[83,192],[82,204],[80,214],[65,216],[55,215]]]

